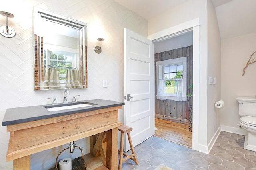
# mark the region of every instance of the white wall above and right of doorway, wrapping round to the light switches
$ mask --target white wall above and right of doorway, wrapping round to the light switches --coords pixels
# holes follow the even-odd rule
[[[209,75],[216,76],[220,80],[220,70],[215,70],[215,66],[218,67],[217,69],[220,68],[220,35],[212,2],[189,0],[164,12],[148,20],[148,34],[158,33],[195,18],[200,18],[200,55],[193,57],[194,61],[198,61],[194,65],[199,66],[200,74],[193,75],[194,80],[199,80],[194,82],[197,85],[193,90],[194,98],[195,96],[199,98],[198,101],[193,98],[193,105],[199,108],[199,110],[193,109],[193,115],[196,115],[193,116],[193,121],[198,123],[198,125],[193,123],[193,126],[198,127],[198,132],[193,132],[193,149],[208,153],[213,145],[211,141],[220,126],[220,119],[213,107],[214,100],[220,98],[220,82],[212,88],[208,86]],[[214,62],[215,66],[212,66],[209,61]],[[208,88],[211,90],[210,95],[208,95]]]

